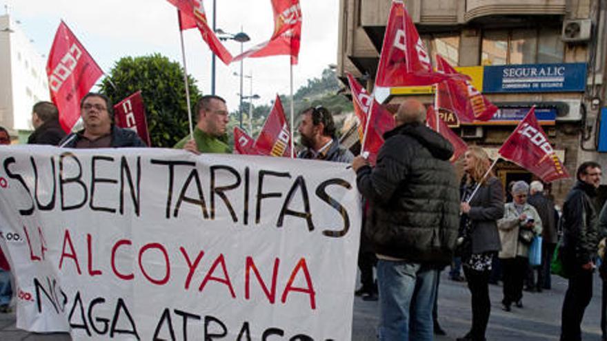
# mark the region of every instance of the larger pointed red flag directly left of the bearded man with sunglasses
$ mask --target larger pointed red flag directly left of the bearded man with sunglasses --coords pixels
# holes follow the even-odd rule
[[[272,110],[270,110],[266,123],[263,123],[263,129],[257,136],[257,141],[255,141],[255,149],[263,155],[290,157],[290,143],[291,132],[280,97],[276,95]]]

